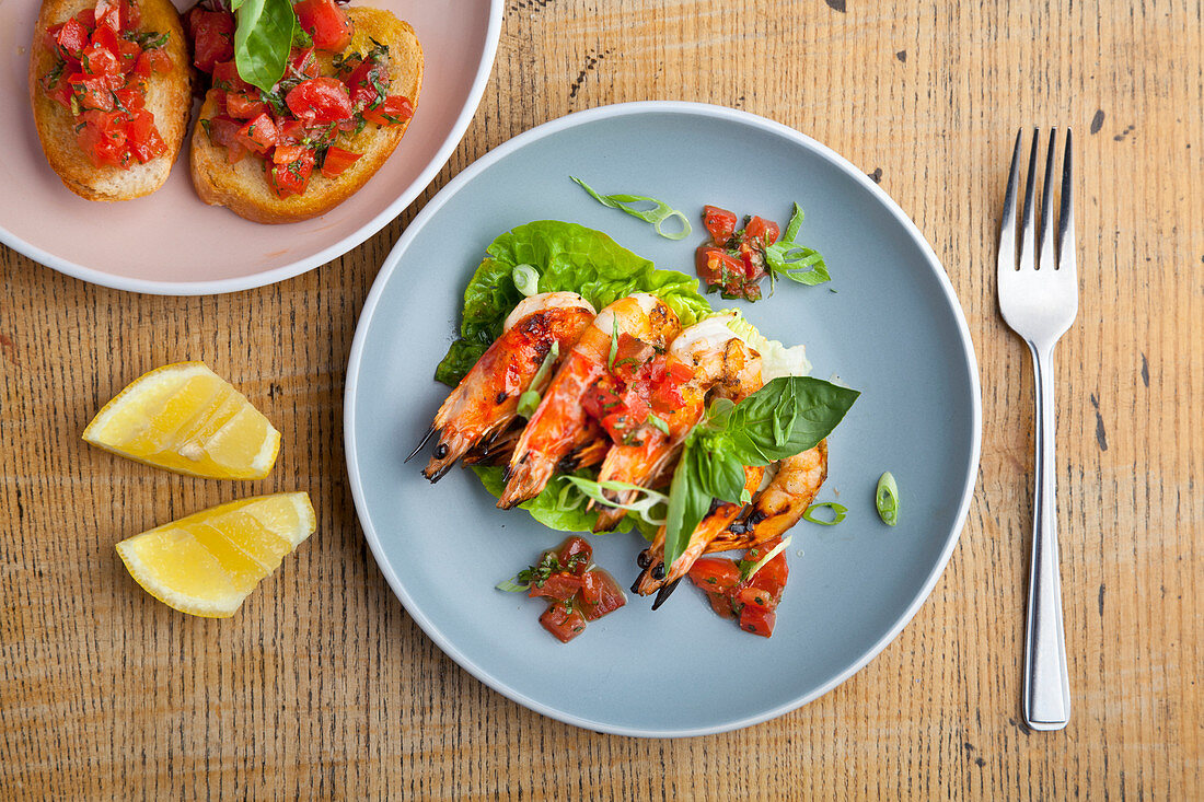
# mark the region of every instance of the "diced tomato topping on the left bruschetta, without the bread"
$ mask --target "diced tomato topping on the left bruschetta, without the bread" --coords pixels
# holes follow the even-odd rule
[[[100,0],[46,30],[55,61],[42,90],[71,112],[76,140],[98,167],[129,170],[167,152],[146,100],[150,76],[171,71],[171,34],[141,25],[135,0]]]

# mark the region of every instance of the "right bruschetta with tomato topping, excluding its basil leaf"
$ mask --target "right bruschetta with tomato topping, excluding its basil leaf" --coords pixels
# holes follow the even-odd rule
[[[189,18],[196,64],[212,64],[193,184],[206,204],[258,223],[305,220],[350,197],[397,147],[423,85],[423,48],[390,12],[335,0],[294,8],[302,35],[271,92],[211,55],[220,40],[206,30],[229,25],[209,16],[220,12]]]

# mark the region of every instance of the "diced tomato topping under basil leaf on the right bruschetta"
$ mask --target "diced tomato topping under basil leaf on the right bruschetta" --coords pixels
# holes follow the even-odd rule
[[[259,159],[277,197],[301,195],[314,170],[342,175],[362,155],[336,142],[367,125],[400,125],[414,113],[409,99],[390,94],[389,48],[373,41],[367,53],[347,53],[354,26],[335,0],[293,6],[301,34],[294,37],[284,77],[262,92],[243,81],[234,61],[235,20],[220,5],[187,14],[194,64],[212,76],[218,112],[201,125],[230,164]]]

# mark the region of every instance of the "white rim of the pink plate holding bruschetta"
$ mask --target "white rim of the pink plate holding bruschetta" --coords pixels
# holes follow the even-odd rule
[[[78,278],[79,281],[89,284],[108,287],[110,289],[142,293],[144,295],[182,296],[237,293],[240,290],[276,284],[277,282],[293,278],[294,276],[300,276],[301,273],[307,273],[315,267],[320,267],[329,261],[334,261],[335,259],[338,259],[340,256],[364,244],[368,237],[378,234],[380,229],[386,226],[397,216],[406,211],[414,199],[430,185],[430,183],[438,175],[439,170],[447,165],[448,160],[452,158],[452,153],[460,146],[461,140],[464,140],[464,135],[467,132],[468,125],[472,124],[472,118],[476,117],[477,110],[480,107],[480,99],[484,96],[485,85],[489,83],[489,77],[492,75],[494,60],[497,57],[497,46],[501,41],[502,18],[504,17],[503,0],[488,0],[488,2],[489,24],[485,28],[485,48],[482,51],[482,59],[477,67],[477,75],[473,77],[472,85],[468,88],[467,102],[464,105],[464,108],[460,110],[460,114],[452,125],[452,130],[448,131],[448,135],[439,145],[438,151],[436,151],[435,158],[427,163],[426,167],[418,173],[418,177],[414,178],[414,181],[411,182],[406,189],[385,208],[352,231],[348,236],[331,246],[327,246],[326,248],[323,248],[315,254],[299,259],[281,267],[273,267],[271,270],[252,273],[249,276],[236,276],[232,278],[218,278],[201,282],[158,282],[148,278],[113,276],[112,273],[106,273],[101,270],[96,270],[95,267],[88,267],[87,265],[81,265],[69,259],[57,256],[48,250],[18,237],[16,234],[6,229],[2,222],[0,222],[0,243],[8,246],[17,253],[28,256],[29,259],[33,259],[51,270],[71,276],[72,278]],[[172,169],[178,169],[179,159],[177,158],[176,161],[177,164],[172,165]],[[393,252],[390,250],[390,254],[391,253]]]

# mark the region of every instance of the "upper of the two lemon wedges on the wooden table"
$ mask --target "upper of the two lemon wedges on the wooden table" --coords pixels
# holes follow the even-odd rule
[[[155,467],[211,479],[261,479],[281,432],[202,362],[144,373],[96,413],[83,438]]]

